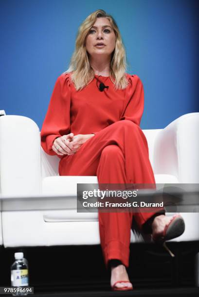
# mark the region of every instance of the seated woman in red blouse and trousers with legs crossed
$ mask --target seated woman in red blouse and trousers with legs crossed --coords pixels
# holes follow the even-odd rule
[[[97,175],[99,183],[155,184],[140,129],[143,85],[125,70],[126,53],[114,19],[103,10],[93,12],[79,28],[70,68],[55,83],[41,129],[42,148],[61,159],[59,175]],[[101,246],[113,290],[132,290],[126,267],[133,216],[154,240],[171,239],[184,231],[181,216],[169,218],[163,209],[99,213]]]

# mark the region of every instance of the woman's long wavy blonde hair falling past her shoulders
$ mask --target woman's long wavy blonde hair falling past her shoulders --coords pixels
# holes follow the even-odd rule
[[[86,37],[90,32],[97,17],[109,19],[110,26],[116,36],[115,49],[111,54],[110,79],[114,83],[115,89],[125,89],[128,85],[126,76],[126,51],[122,42],[122,37],[114,18],[104,10],[98,9],[88,16],[80,25],[75,41],[75,50],[72,54],[69,68],[64,72],[71,73],[71,81],[76,90],[81,90],[94,79],[94,70],[90,66],[88,53],[86,50]]]

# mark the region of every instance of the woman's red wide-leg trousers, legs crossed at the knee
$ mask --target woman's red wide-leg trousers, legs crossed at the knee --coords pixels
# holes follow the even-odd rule
[[[99,183],[155,184],[145,135],[130,120],[111,124],[87,140],[75,154],[66,155],[59,163],[59,175],[97,175]],[[98,213],[107,267],[111,259],[118,259],[128,267],[132,218],[142,229],[154,214]]]

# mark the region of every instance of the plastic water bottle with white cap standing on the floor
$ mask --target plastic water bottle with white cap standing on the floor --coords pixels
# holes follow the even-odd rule
[[[11,285],[18,287],[17,289],[24,289],[29,285],[28,280],[28,261],[23,258],[23,253],[15,253],[15,262],[11,266]],[[16,292],[13,296],[28,295],[26,292]]]

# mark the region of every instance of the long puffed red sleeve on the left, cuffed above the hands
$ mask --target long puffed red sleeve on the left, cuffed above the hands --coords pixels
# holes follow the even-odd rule
[[[55,82],[40,132],[41,146],[49,155],[56,155],[52,149],[55,138],[70,133],[70,105],[70,74],[61,74]]]

